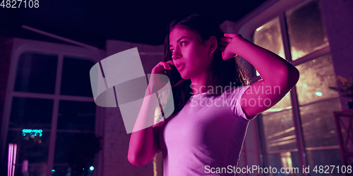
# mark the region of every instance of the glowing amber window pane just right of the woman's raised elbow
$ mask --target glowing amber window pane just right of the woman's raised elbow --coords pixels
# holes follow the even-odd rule
[[[337,86],[330,54],[302,63],[297,68],[300,73],[296,85],[299,105],[338,97],[337,92],[328,88]]]

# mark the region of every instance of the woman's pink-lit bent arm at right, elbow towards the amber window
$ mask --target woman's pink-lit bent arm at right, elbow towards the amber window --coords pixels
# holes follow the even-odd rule
[[[251,119],[256,114],[274,106],[289,92],[299,80],[299,71],[285,59],[261,46],[257,46],[241,37],[240,34],[225,34],[222,45],[224,60],[236,54],[253,65],[262,80],[254,82],[241,96],[241,108]]]

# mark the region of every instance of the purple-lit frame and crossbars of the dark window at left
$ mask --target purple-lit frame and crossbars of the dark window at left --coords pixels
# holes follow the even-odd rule
[[[15,92],[14,86],[16,82],[16,72],[18,68],[18,60],[21,54],[32,51],[39,54],[56,54],[58,56],[58,63],[56,66],[56,82],[54,88],[54,94],[42,94],[42,93],[31,93],[31,92]],[[1,137],[0,137],[0,149],[1,149],[1,161],[4,161],[6,157],[6,138],[9,130],[9,119],[11,115],[11,105],[13,97],[23,97],[23,98],[36,98],[36,99],[52,99],[54,101],[53,111],[52,111],[52,124],[50,128],[49,137],[49,152],[47,160],[47,175],[51,174],[52,168],[54,168],[54,152],[55,152],[55,142],[56,142],[56,132],[57,130],[57,120],[59,112],[59,101],[85,101],[85,102],[95,102],[93,97],[88,96],[67,96],[60,94],[61,88],[61,73],[64,62],[64,56],[73,56],[78,58],[88,58],[89,61],[93,63],[99,62],[102,58],[106,57],[106,51],[100,49],[86,49],[80,46],[73,46],[68,44],[55,44],[50,42],[41,42],[30,39],[20,39],[13,38],[13,47],[11,51],[11,61],[10,68],[8,71],[8,81],[6,84],[6,97],[4,102],[4,115],[3,121],[1,123]],[[89,73],[88,73],[89,75]],[[96,106],[95,113],[95,135],[97,137],[102,137],[104,127],[104,108]],[[64,131],[64,130],[59,130]],[[67,130],[70,131],[70,130]],[[102,173],[102,160],[103,153],[102,150],[97,154],[97,172],[95,175],[101,175]],[[19,161],[18,161],[19,162]],[[20,165],[20,164],[19,164]]]

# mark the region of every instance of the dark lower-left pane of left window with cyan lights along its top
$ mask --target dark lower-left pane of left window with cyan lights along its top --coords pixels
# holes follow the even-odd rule
[[[48,159],[50,132],[42,132],[42,136],[31,136],[22,134],[22,131],[9,130],[7,134],[6,153],[8,144],[17,144],[16,163],[21,164],[24,160],[32,163],[46,163]]]

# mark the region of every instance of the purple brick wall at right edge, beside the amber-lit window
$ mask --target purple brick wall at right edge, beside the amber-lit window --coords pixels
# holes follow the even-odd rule
[[[353,76],[353,1],[321,0],[335,75]],[[340,96],[342,110],[349,99]]]

